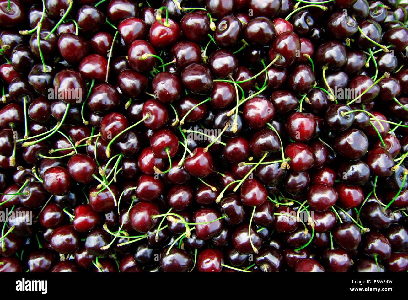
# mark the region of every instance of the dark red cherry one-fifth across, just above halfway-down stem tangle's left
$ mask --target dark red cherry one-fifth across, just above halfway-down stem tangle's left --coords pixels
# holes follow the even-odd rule
[[[73,180],[80,183],[91,183],[96,175],[98,166],[95,160],[85,154],[74,154],[68,161],[68,172]]]

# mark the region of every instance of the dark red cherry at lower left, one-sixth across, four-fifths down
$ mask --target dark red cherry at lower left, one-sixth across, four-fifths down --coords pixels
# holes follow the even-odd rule
[[[72,254],[80,247],[80,236],[72,225],[62,225],[54,229],[50,244],[54,251]]]

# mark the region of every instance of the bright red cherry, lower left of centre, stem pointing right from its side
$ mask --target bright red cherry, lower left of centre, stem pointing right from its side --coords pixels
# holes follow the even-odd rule
[[[160,215],[160,208],[151,202],[139,202],[129,211],[129,222],[132,227],[139,232],[147,232],[157,223]]]

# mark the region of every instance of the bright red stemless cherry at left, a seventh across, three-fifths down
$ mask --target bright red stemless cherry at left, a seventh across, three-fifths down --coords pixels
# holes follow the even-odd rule
[[[72,187],[72,179],[64,167],[51,167],[44,172],[45,189],[55,195],[61,196],[69,192]]]

